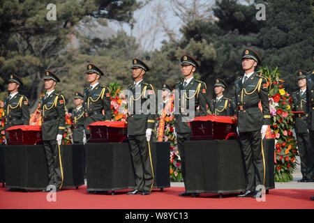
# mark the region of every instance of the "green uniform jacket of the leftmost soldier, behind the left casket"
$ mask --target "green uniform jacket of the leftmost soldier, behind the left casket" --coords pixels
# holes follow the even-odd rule
[[[29,125],[29,102],[26,96],[17,93],[3,100],[4,130],[14,125]],[[8,135],[6,134],[6,138]]]

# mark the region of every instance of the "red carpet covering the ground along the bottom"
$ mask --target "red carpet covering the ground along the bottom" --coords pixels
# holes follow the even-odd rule
[[[57,201],[48,202],[43,192],[6,192],[0,188],[0,208],[16,209],[313,209],[314,190],[270,190],[266,201],[252,198],[239,199],[237,194],[201,194],[200,197],[179,197],[184,187],[165,188],[163,192],[154,190],[148,196],[127,195],[130,190],[119,190],[111,194],[87,194],[86,186],[78,190],[57,192]]]

